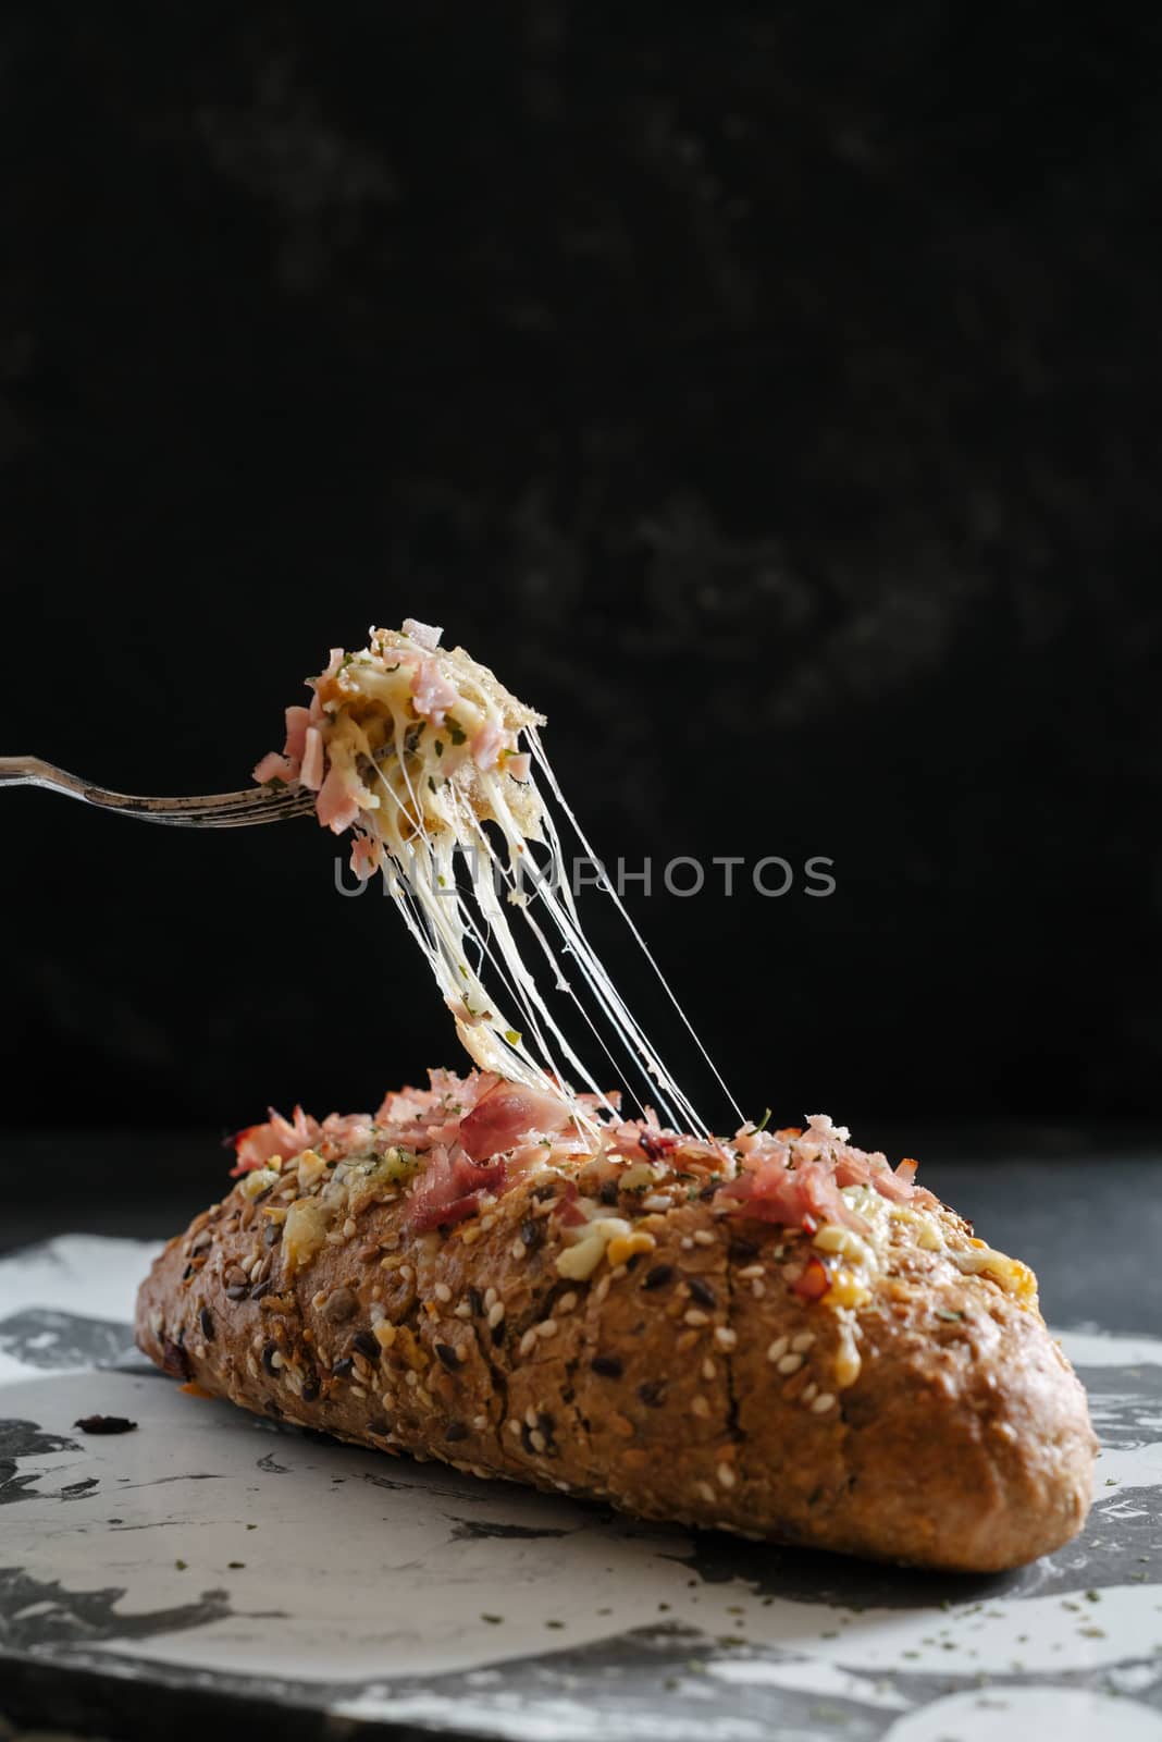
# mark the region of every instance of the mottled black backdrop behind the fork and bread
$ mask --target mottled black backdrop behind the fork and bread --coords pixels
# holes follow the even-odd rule
[[[1159,35],[7,12],[2,747],[238,787],[329,645],[440,622],[611,859],[835,861],[823,901],[633,899],[748,1111],[1145,1115]],[[212,1132],[454,1063],[311,824],[2,808],[9,1122]]]

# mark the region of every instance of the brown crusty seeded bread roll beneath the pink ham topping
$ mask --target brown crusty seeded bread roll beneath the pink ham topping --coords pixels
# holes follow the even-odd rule
[[[724,1214],[713,1183],[659,1211],[531,1174],[414,1233],[383,1169],[320,1219],[317,1165],[245,1176],[165,1247],[137,1341],[167,1373],[391,1455],[917,1566],[1018,1566],[1085,1517],[1082,1387],[1028,1272],[965,1273],[943,1205],[882,1218],[865,1280],[811,1300],[811,1232]],[[578,1183],[619,1218],[584,1251]]]

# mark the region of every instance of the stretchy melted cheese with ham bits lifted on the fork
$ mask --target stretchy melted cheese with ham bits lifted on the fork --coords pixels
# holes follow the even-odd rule
[[[513,779],[506,768],[524,730],[551,798],[597,864],[544,754],[538,716],[463,648],[438,648],[431,636],[438,632],[411,622],[404,632],[372,629],[365,653],[348,655],[343,664],[332,657],[329,672],[315,681],[311,719],[329,766],[320,819],[336,829],[353,822],[379,843],[379,868],[404,923],[482,1070],[557,1096],[567,1094],[567,1085],[584,1087],[604,1111],[616,1111],[553,1016],[548,991],[555,991],[579,1014],[618,1078],[624,1082],[626,1071],[640,1078],[640,1101],[656,1104],[677,1129],[705,1136],[705,1122],[584,935],[560,833],[532,770]],[[292,766],[297,775],[297,763]],[[337,814],[336,791],[348,807]],[[544,868],[531,845],[544,848]],[[459,866],[468,868],[466,883],[457,880]],[[624,904],[604,876],[600,887],[741,1120]],[[515,935],[520,927],[527,927],[525,953]],[[527,956],[532,963],[544,960],[551,986],[538,981]],[[576,1101],[572,1113],[578,1124],[593,1127]]]

